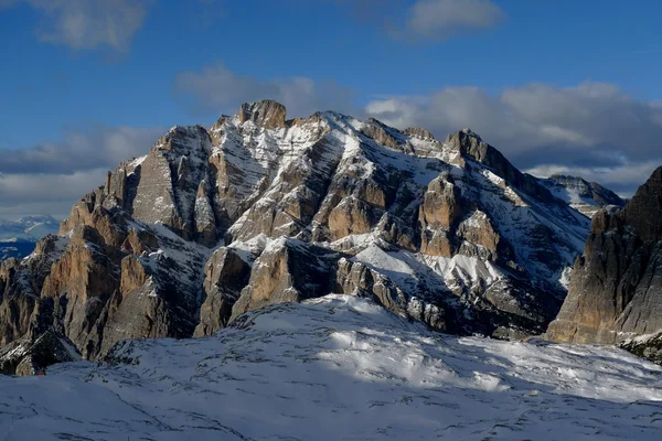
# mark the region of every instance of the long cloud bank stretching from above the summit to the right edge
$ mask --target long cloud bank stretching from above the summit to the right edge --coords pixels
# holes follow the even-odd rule
[[[523,171],[579,175],[623,195],[662,164],[662,103],[637,99],[608,83],[532,83],[498,94],[445,87],[420,96],[376,96],[356,106],[357,95],[334,83],[259,80],[216,63],[180,73],[173,90],[196,115],[234,112],[241,103],[271,98],[290,117],[332,109],[398,128],[423,127],[441,139],[469,127]]]

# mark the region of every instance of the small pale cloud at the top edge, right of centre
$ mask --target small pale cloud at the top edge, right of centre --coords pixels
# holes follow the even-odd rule
[[[503,19],[503,10],[490,0],[419,0],[409,11],[406,28],[416,36],[445,40],[492,28]]]

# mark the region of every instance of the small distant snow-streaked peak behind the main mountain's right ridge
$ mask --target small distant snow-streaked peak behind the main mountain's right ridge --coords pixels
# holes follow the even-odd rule
[[[538,182],[546,186],[554,196],[564,200],[573,208],[588,217],[592,217],[602,208],[620,208],[626,205],[626,201],[611,190],[581,178],[554,174],[548,179],[541,179]]]

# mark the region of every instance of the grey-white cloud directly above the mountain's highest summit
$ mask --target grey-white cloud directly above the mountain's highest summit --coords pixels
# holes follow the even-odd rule
[[[352,90],[333,82],[314,82],[308,77],[286,77],[259,80],[238,75],[223,64],[201,72],[177,75],[175,98],[194,114],[221,114],[235,110],[241,103],[274,99],[285,105],[289,116],[309,116],[318,110],[352,111]]]

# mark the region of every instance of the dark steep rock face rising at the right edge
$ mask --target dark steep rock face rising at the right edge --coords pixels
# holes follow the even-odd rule
[[[613,344],[661,329],[662,168],[624,208],[594,216],[568,297],[547,336]]]

